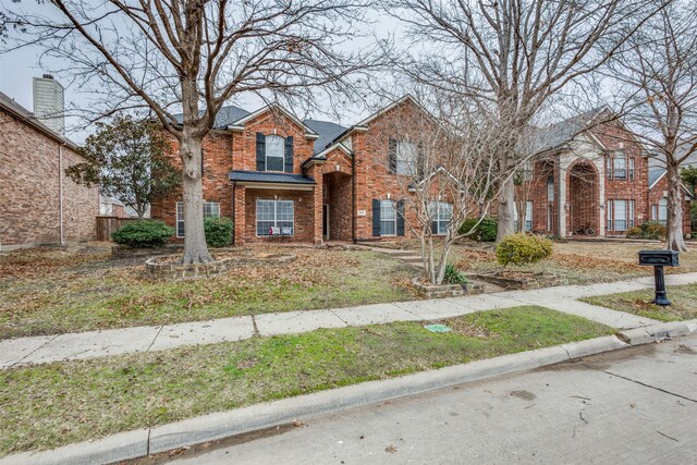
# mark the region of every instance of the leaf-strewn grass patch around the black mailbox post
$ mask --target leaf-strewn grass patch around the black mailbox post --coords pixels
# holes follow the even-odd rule
[[[681,321],[697,318],[697,284],[668,287],[668,298],[673,304],[668,307],[651,304],[650,302],[655,296],[653,290],[646,290],[586,297],[582,298],[582,301],[659,321]]]

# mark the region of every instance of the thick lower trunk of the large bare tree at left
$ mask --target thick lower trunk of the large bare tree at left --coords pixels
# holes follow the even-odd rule
[[[184,257],[183,264],[212,261],[204,232],[204,189],[200,173],[203,140],[184,135],[180,157],[184,163]]]

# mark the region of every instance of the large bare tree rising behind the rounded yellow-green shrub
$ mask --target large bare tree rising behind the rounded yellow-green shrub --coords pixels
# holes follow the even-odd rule
[[[670,2],[671,0],[665,0]],[[427,59],[404,66],[424,83],[496,110],[501,176],[498,240],[513,231],[517,139],[541,108],[596,71],[662,5],[646,0],[392,0]],[[435,44],[435,46],[433,46]],[[433,50],[438,48],[437,52]]]

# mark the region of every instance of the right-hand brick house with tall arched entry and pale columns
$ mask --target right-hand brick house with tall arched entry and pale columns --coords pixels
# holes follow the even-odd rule
[[[516,188],[516,204],[525,204],[525,230],[622,236],[634,225],[659,220],[652,206],[660,187],[649,182],[647,152],[610,110],[578,114],[535,136],[538,155]],[[688,205],[685,211],[688,233]]]

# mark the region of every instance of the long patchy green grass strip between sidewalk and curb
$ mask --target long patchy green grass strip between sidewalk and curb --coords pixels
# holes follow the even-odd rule
[[[0,372],[0,455],[612,333],[527,306]]]

